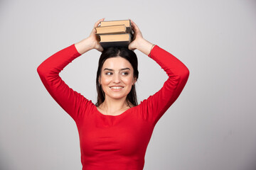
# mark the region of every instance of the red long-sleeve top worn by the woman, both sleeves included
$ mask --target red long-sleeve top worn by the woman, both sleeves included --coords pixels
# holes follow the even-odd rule
[[[155,45],[151,59],[168,74],[164,86],[121,115],[104,115],[92,101],[70,89],[59,73],[79,57],[75,44],[56,52],[37,71],[49,94],[75,120],[80,137],[82,170],[141,170],[154,126],[185,86],[188,68]]]

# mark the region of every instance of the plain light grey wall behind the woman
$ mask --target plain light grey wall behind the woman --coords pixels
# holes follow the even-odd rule
[[[81,169],[75,122],[50,97],[36,68],[86,38],[94,23],[131,18],[146,40],[190,70],[177,101],[156,124],[144,169],[256,168],[256,1],[0,1],[0,169]],[[167,79],[139,57],[139,101]],[[100,52],[60,76],[95,101]]]

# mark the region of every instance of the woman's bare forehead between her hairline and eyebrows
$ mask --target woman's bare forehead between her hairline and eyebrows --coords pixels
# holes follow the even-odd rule
[[[123,57],[111,57],[108,58],[103,66],[102,70],[108,68],[108,69],[123,69],[123,68],[129,68],[132,69],[132,64],[129,63],[128,60],[124,59]]]

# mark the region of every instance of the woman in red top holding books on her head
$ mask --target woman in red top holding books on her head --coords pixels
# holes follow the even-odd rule
[[[97,21],[95,26],[99,26]],[[38,67],[38,74],[50,95],[75,120],[80,136],[82,169],[143,169],[146,147],[154,126],[171,106],[188,80],[187,67],[169,52],[142,37],[131,21],[134,40],[125,48],[103,50],[95,29],[90,36],[50,56]],[[97,71],[97,103],[70,89],[60,71],[83,53],[102,52]],[[137,104],[134,84],[138,79],[140,50],[155,60],[169,79],[164,86]]]

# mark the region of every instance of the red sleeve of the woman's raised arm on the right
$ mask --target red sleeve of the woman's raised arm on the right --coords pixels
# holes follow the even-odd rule
[[[174,55],[155,45],[151,50],[151,59],[156,61],[168,75],[164,86],[153,96],[142,101],[142,109],[146,118],[156,125],[157,121],[176,101],[188,81],[188,68]]]

